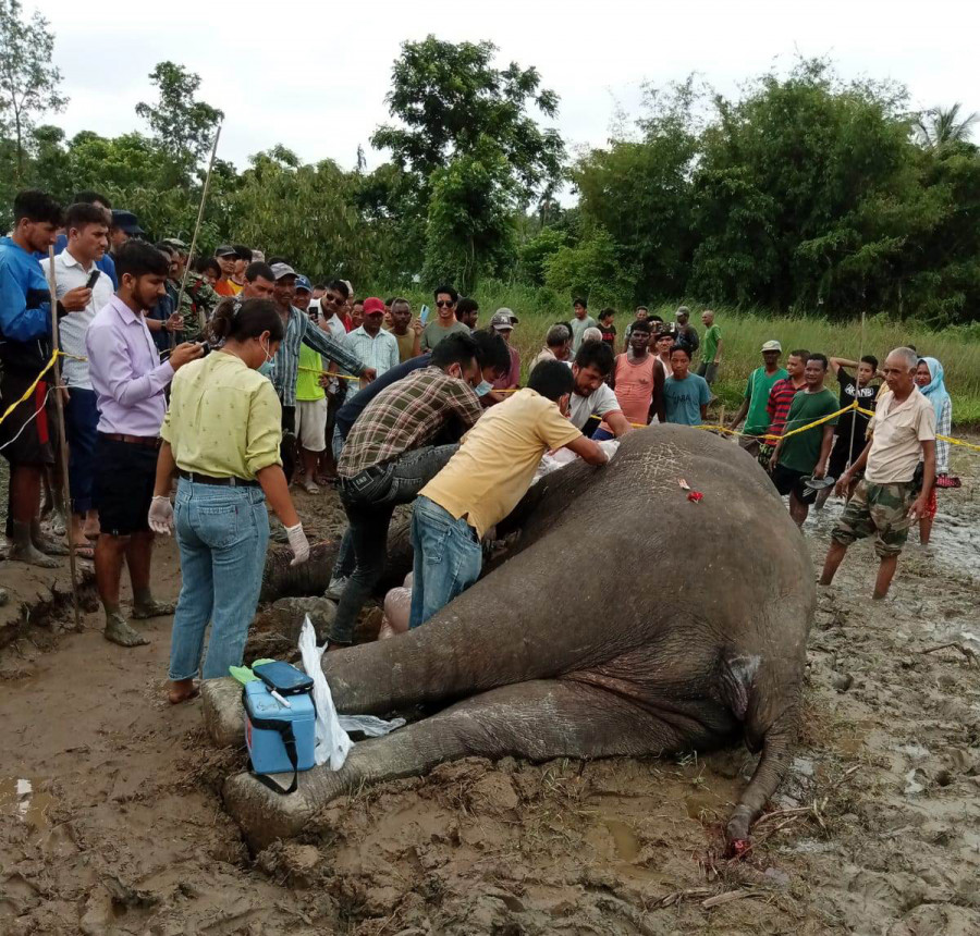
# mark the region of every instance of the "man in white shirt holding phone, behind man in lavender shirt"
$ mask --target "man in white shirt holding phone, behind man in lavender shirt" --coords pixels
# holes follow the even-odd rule
[[[112,280],[96,267],[109,247],[109,218],[97,205],[79,202],[65,213],[68,244],[54,258],[57,298],[63,299],[72,290],[89,288],[91,295],[84,311],[65,316],[60,322],[59,337],[65,355],[85,357],[85,335],[96,312],[113,294]],[[50,260],[41,267],[48,275]],[[91,282],[90,282],[91,281]],[[90,283],[90,284],[89,284]],[[69,443],[69,488],[71,490],[70,545],[84,558],[93,558],[93,547],[85,538],[84,526],[98,532],[98,514],[91,506],[96,426],[99,411],[96,394],[88,377],[88,361],[64,357],[62,375],[69,387],[64,409],[64,427]]]

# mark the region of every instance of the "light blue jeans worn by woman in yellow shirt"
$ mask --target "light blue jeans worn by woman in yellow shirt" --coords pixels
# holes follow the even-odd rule
[[[170,673],[192,679],[200,666],[205,630],[211,624],[201,677],[228,676],[240,666],[255,616],[269,515],[261,488],[220,488],[181,478],[174,504],[181,551],[181,596],[173,616]]]

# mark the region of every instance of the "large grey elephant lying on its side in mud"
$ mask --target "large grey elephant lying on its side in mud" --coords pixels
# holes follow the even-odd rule
[[[703,493],[687,500],[686,479]],[[707,432],[627,435],[604,468],[549,475],[515,512],[511,554],[417,630],[326,654],[341,713],[438,714],[358,743],[290,797],[248,774],[224,799],[252,843],[334,797],[467,755],[762,756],[728,822],[749,826],[787,766],[814,605],[804,540],[756,461]]]

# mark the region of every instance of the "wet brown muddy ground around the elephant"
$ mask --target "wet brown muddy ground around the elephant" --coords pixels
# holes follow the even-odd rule
[[[721,829],[744,750],[463,761],[250,855],[216,792],[241,754],[207,747],[199,703],[162,701],[169,619],[133,651],[97,614],[72,632],[57,593],[25,621],[51,590],[0,563],[21,635],[0,651],[0,933],[978,933],[980,460],[954,467],[890,600],[868,600],[867,543],[821,590],[801,742],[740,861]],[[332,493],[297,501],[333,531]],[[840,509],[807,524],[814,563]],[[157,569],[175,595],[172,545]]]

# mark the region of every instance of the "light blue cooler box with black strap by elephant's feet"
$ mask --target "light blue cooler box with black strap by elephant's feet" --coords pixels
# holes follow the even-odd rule
[[[271,728],[253,727],[253,717],[292,722],[298,769],[308,771],[316,763],[314,760],[316,709],[313,697],[308,692],[303,692],[285,698],[292,709],[281,705],[260,679],[245,683],[245,743],[248,744],[252,768],[257,774],[291,774],[293,765],[286,754],[282,736]]]

